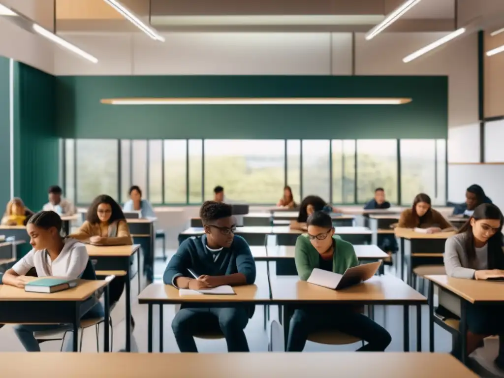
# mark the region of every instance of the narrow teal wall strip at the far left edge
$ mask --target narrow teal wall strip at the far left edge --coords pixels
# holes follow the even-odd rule
[[[0,213],[11,196],[11,131],[9,116],[9,58],[0,56]]]

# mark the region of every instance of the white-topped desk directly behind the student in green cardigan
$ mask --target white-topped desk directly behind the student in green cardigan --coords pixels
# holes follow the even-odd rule
[[[354,245],[357,259],[362,262],[372,262],[385,260],[389,257],[377,245]],[[267,261],[276,262],[277,276],[297,276],[296,264],[294,262],[295,246],[275,245],[267,248]],[[257,259],[256,259],[257,260]],[[380,266],[380,274],[384,274],[384,265]]]

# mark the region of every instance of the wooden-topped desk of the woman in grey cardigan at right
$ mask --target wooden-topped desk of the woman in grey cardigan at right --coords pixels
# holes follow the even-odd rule
[[[446,328],[444,322],[434,317],[434,285],[442,290],[447,290],[460,299],[460,323],[462,362],[467,361],[467,317],[468,303],[471,304],[495,304],[504,303],[504,290],[501,282],[468,280],[452,278],[446,275],[425,276],[429,280],[429,351],[434,351],[434,322]]]

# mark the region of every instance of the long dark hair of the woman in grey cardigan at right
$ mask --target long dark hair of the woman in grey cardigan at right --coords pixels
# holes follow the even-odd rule
[[[474,266],[474,262],[476,261],[476,249],[474,247],[474,233],[471,226],[471,219],[476,221],[481,219],[493,219],[499,220],[499,230],[495,232],[493,236],[491,236],[488,243],[488,269],[495,269],[498,261],[496,259],[500,258],[500,261],[504,260],[504,254],[502,254],[502,244],[503,244],[503,235],[500,232],[502,229],[502,225],[504,225],[504,217],[502,216],[502,212],[500,209],[493,204],[481,204],[478,205],[474,209],[474,213],[469,218],[469,220],[461,227],[459,230],[459,234],[466,234],[466,245],[465,250],[467,254],[467,260],[471,266]],[[501,265],[501,264],[500,264]]]

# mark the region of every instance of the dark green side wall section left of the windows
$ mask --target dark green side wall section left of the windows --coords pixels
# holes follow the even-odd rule
[[[14,64],[14,194],[32,210],[47,202],[47,187],[58,182],[59,141],[55,77]]]

